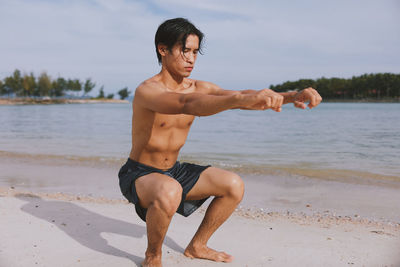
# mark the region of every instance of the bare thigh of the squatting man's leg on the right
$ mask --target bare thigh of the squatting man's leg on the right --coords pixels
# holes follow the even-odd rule
[[[223,196],[230,190],[233,184],[237,183],[243,183],[237,174],[209,167],[201,173],[197,183],[186,195],[186,199],[198,200],[209,196]]]

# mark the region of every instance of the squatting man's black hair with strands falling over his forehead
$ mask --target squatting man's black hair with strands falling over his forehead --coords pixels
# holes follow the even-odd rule
[[[196,28],[189,20],[184,18],[175,18],[164,21],[158,26],[154,43],[156,45],[158,63],[161,64],[161,55],[158,52],[157,46],[164,44],[168,50],[171,51],[172,47],[180,42],[182,44],[182,51],[186,48],[186,39],[189,35],[194,34],[199,37],[199,52],[201,54],[202,41],[204,34]]]

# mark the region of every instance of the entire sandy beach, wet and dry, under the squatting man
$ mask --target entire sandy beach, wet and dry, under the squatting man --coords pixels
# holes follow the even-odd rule
[[[140,266],[145,224],[120,196],[118,162],[0,158],[0,266]],[[395,185],[243,179],[241,206],[209,243],[234,262],[183,256],[205,205],[174,216],[164,266],[400,266]]]

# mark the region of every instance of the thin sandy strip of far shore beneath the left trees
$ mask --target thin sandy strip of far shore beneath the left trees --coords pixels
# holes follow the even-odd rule
[[[94,103],[129,103],[128,100],[90,98],[90,99],[69,99],[69,98],[0,98],[0,105],[49,105],[49,104],[94,104]]]

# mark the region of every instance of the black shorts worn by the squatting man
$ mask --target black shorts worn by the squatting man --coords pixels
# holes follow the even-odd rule
[[[207,200],[207,198],[201,200],[185,199],[187,193],[189,193],[189,191],[196,184],[200,174],[208,167],[210,167],[210,165],[200,166],[192,163],[180,163],[177,161],[172,168],[168,170],[161,170],[128,158],[128,161],[121,167],[118,173],[119,186],[126,199],[135,204],[136,213],[139,215],[139,217],[143,221],[146,221],[147,209],[139,205],[135,181],[141,176],[154,172],[168,175],[178,181],[182,186],[182,200],[178,207],[177,213],[187,217]]]

